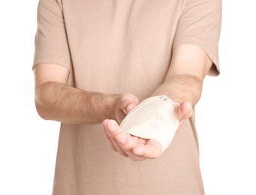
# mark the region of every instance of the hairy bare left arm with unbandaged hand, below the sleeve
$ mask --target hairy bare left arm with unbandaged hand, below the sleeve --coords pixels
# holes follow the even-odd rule
[[[104,95],[67,85],[69,71],[59,65],[36,65],[35,105],[47,120],[92,124],[106,118],[122,121],[138,100],[134,95]]]

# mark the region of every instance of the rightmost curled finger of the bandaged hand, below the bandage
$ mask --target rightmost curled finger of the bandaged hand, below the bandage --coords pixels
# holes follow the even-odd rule
[[[138,145],[133,152],[142,157],[153,159],[162,154],[162,147],[159,142],[149,139],[146,145]]]

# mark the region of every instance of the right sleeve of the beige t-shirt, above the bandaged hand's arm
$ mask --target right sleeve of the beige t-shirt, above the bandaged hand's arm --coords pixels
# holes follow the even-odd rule
[[[173,41],[173,49],[193,44],[212,60],[209,75],[219,74],[218,40],[221,32],[221,0],[187,0]]]

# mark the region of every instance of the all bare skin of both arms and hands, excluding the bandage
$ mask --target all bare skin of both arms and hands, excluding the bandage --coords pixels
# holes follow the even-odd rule
[[[170,68],[164,82],[152,96],[167,95],[179,103],[175,107],[180,124],[193,113],[200,99],[203,80],[212,62],[197,46],[182,45],[173,49]],[[59,65],[36,65],[35,105],[46,120],[70,124],[101,123],[110,148],[131,160],[159,157],[159,142],[131,136],[120,130],[119,124],[132,108],[139,104],[135,95],[104,95],[68,86],[68,70]],[[100,106],[99,106],[100,105]]]

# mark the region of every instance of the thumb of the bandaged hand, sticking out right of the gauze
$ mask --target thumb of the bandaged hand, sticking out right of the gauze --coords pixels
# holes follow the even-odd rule
[[[191,102],[189,101],[182,102],[182,104],[179,104],[178,107],[174,108],[174,113],[176,114],[176,117],[179,119],[179,121],[188,119],[189,117],[191,117],[193,113]]]

